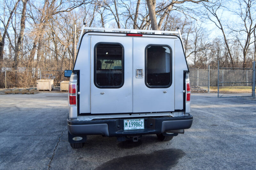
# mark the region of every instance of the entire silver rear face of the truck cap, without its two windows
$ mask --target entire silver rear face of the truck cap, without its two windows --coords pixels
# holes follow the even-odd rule
[[[78,116],[151,112],[151,116],[158,115],[154,112],[168,112],[167,115],[173,116],[175,111],[184,108],[183,71],[188,71],[188,67],[177,36],[146,34],[132,37],[125,33],[89,32],[80,41],[73,69],[79,70]],[[94,85],[94,47],[99,42],[120,43],[124,48],[124,85],[120,88],[98,88]],[[145,85],[145,48],[150,44],[171,48],[172,68],[169,69],[172,69],[172,84],[168,88],[148,88]],[[143,69],[143,78],[136,78],[136,69]],[[104,94],[100,94],[102,92]],[[97,118],[96,115],[93,117]]]

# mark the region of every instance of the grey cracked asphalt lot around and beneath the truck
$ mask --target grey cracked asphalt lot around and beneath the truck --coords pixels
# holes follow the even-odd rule
[[[0,169],[255,169],[256,100],[191,97],[192,127],[171,141],[88,136],[72,149],[67,93],[0,95]]]

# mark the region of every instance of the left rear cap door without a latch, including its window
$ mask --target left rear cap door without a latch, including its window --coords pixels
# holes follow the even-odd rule
[[[92,35],[91,57],[91,114],[132,113],[132,37]]]

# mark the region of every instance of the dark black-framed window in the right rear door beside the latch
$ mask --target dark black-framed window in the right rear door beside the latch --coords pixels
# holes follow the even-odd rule
[[[150,88],[171,85],[171,49],[165,46],[149,46],[146,49],[146,85]]]

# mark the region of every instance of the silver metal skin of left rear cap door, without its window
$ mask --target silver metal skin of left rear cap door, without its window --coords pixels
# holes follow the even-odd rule
[[[120,88],[98,88],[95,86],[94,60],[91,64],[91,114],[132,113],[132,37],[92,35],[92,58],[94,47],[99,42],[120,43],[124,48],[124,85]],[[104,92],[104,94],[100,94]],[[80,113],[84,113],[81,110]]]

